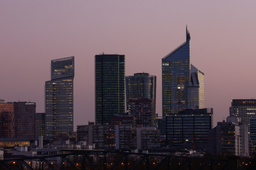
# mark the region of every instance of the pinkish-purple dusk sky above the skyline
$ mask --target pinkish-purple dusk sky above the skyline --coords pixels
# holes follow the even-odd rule
[[[214,126],[232,99],[256,98],[256,1],[1,1],[0,99],[44,112],[53,59],[75,57],[74,130],[94,121],[94,56],[125,55],[125,75],[157,76],[161,60],[191,35],[191,63],[205,73]]]

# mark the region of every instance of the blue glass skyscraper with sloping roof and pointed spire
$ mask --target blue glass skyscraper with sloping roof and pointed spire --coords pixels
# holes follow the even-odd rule
[[[162,58],[162,113],[205,107],[204,73],[190,63],[190,33],[186,41]]]

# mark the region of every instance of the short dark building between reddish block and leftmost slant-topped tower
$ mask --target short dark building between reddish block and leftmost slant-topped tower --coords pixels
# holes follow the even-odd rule
[[[35,113],[35,138],[45,138],[45,113]]]

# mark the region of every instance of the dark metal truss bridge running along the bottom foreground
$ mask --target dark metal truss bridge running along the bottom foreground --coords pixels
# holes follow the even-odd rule
[[[62,155],[0,160],[0,170],[228,170],[230,167],[239,169],[239,160],[237,157],[232,160],[222,160],[189,156],[93,150]]]

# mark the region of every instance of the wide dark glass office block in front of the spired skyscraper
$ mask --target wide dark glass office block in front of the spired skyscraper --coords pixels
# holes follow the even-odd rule
[[[167,144],[182,148],[186,143],[208,142],[208,130],[213,128],[213,108],[185,109],[167,116]]]

